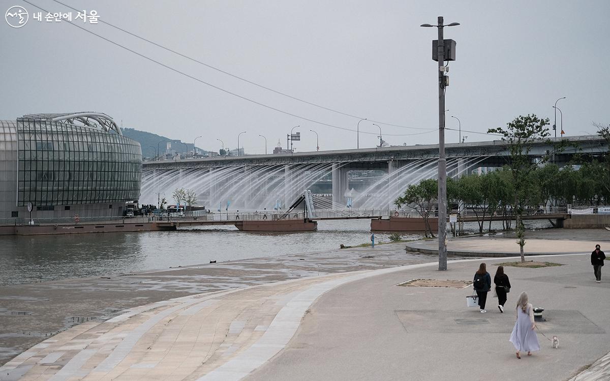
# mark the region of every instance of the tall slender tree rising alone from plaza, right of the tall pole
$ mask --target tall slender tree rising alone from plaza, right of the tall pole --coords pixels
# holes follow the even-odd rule
[[[539,119],[536,115],[531,114],[517,116],[512,122],[506,124],[506,128],[497,127],[487,130],[488,134],[502,135],[502,140],[508,143],[511,157],[507,167],[514,184],[512,210],[515,215],[515,231],[519,240],[517,243],[519,243],[521,262],[525,262],[525,255],[523,254],[523,246],[525,246],[523,210],[530,204],[530,200],[534,196],[534,194],[531,194],[528,182],[531,180],[531,173],[537,165],[547,162],[550,157],[550,153],[543,155],[539,162],[535,163],[529,160],[529,152],[532,143],[550,136],[548,128],[545,126],[548,126],[548,118]]]

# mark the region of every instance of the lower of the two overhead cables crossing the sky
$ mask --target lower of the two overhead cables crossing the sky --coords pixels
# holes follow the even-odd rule
[[[30,1],[23,0],[23,2],[26,2],[27,4],[32,5],[32,7],[36,7],[38,9],[42,10],[43,12],[49,13],[48,10],[44,9],[43,7],[40,7],[39,5],[33,4]],[[133,53],[135,55],[138,55],[138,56],[142,57],[145,60],[149,60],[150,62],[153,62],[153,63],[156,63],[157,65],[163,66],[166,69],[170,69],[174,73],[181,74],[182,76],[185,76],[185,77],[188,77],[190,79],[196,80],[197,82],[200,82],[201,84],[208,85],[209,87],[212,87],[212,88],[215,88],[217,90],[223,91],[223,93],[231,94],[232,96],[235,96],[237,98],[243,99],[244,101],[252,102],[253,104],[257,104],[257,105],[265,107],[267,109],[274,110],[276,112],[279,112],[279,113],[282,113],[282,114],[285,114],[285,115],[294,116],[295,118],[300,118],[300,119],[303,119],[303,120],[311,122],[311,123],[320,124],[321,126],[328,126],[328,127],[332,127],[332,128],[335,128],[335,129],[351,131],[351,132],[359,132],[361,134],[367,134],[367,135],[378,135],[376,132],[358,131],[358,130],[349,129],[347,127],[340,127],[340,126],[335,126],[334,124],[324,123],[324,122],[321,122],[321,121],[317,121],[315,119],[306,118],[305,116],[296,115],[294,113],[290,113],[290,112],[287,112],[287,111],[284,111],[284,110],[280,110],[280,109],[278,109],[276,107],[273,107],[273,106],[270,106],[270,105],[267,105],[267,104],[264,104],[264,103],[261,103],[261,102],[254,101],[254,99],[246,98],[245,96],[242,96],[242,95],[239,95],[239,94],[236,94],[236,93],[232,93],[229,90],[224,90],[224,88],[218,87],[216,85],[212,85],[209,82],[204,81],[203,79],[199,79],[199,78],[194,77],[194,76],[192,76],[190,74],[184,73],[184,71],[180,71],[180,70],[178,70],[176,68],[173,68],[171,66],[165,65],[165,63],[162,63],[162,62],[159,62],[157,60],[154,60],[154,59],[152,59],[152,58],[150,58],[150,57],[148,57],[148,56],[146,56],[146,55],[144,55],[142,53],[138,53],[137,51],[134,51],[133,49],[127,48],[126,46],[123,46],[120,43],[112,41],[109,38],[103,37],[102,35],[96,34],[95,32],[91,32],[91,30],[88,30],[88,29],[86,29],[86,28],[84,28],[82,26],[79,26],[77,24],[74,24],[72,21],[65,20],[65,22],[69,23],[69,24],[71,24],[71,25],[73,25],[73,26],[75,26],[75,27],[77,27],[77,28],[79,28],[81,30],[84,30],[85,32],[87,32],[89,34],[92,34],[92,35],[94,35],[96,37],[99,37],[102,40],[111,43],[112,45],[118,46],[121,49],[125,49],[126,51],[129,51],[129,52],[131,52],[131,53]],[[384,134],[384,135],[386,135],[386,136],[403,137],[403,136],[429,134],[431,132],[433,132],[433,130],[431,130],[431,131],[424,131],[424,132],[418,132],[416,134]]]

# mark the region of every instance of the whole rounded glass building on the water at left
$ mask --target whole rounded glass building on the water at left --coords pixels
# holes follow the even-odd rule
[[[0,121],[0,219],[121,216],[141,181],[140,143],[106,114]]]

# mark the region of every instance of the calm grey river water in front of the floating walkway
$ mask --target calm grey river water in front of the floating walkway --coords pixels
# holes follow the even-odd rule
[[[531,227],[547,227],[532,221]],[[465,224],[475,230],[476,223]],[[487,225],[486,225],[487,227]],[[501,229],[499,226],[492,227]],[[0,285],[124,274],[245,258],[331,251],[370,242],[370,220],[319,221],[317,232],[253,233],[234,226],[175,232],[0,237]],[[403,234],[403,239],[421,238]],[[389,234],[375,233],[375,241]]]

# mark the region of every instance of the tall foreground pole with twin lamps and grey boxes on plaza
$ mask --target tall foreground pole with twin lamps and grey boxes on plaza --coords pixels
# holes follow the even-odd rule
[[[451,23],[447,26],[456,26],[459,23]],[[422,24],[423,27],[432,27],[430,24]],[[445,76],[447,66],[445,60],[455,60],[455,41],[443,39],[443,16],[439,16],[438,25],[434,25],[439,31],[439,40],[436,41],[437,51],[434,51],[432,41],[432,59],[439,62],[439,270],[447,270],[447,159],[445,159],[445,88],[449,84],[449,77]],[[445,46],[447,43],[447,46]],[[445,54],[448,54],[446,57]]]

